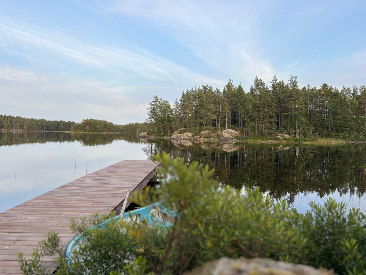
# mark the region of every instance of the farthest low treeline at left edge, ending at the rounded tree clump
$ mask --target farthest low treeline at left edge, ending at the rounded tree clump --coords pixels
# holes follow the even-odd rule
[[[22,131],[72,131],[74,121],[45,120],[0,114],[0,129]]]

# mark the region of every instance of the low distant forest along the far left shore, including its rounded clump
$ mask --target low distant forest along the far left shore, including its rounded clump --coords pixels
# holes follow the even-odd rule
[[[0,129],[13,131],[72,131],[72,132],[122,132],[122,125],[114,125],[106,120],[85,119],[80,123],[74,121],[57,121],[36,118],[0,115]]]

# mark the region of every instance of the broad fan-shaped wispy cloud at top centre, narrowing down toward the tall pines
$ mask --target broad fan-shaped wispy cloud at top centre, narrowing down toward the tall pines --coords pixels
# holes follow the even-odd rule
[[[250,3],[127,0],[108,8],[163,27],[225,78],[251,82],[255,74],[273,75],[270,61],[255,39],[258,11]]]

